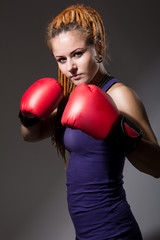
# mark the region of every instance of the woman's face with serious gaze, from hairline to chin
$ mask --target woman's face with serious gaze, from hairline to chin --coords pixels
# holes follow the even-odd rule
[[[53,55],[61,72],[75,85],[90,83],[99,69],[95,47],[78,31],[62,32],[51,41]]]

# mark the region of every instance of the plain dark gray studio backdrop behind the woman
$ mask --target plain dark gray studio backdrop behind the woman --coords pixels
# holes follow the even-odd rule
[[[159,0],[80,1],[95,8],[110,41],[108,70],[134,88],[160,140]],[[44,41],[47,23],[76,1],[0,1],[0,239],[72,240],[65,170],[50,139],[26,143],[17,118],[24,91],[41,77],[57,78]],[[156,156],[153,156],[153,158]],[[159,180],[126,161],[125,189],[145,240],[160,239]]]

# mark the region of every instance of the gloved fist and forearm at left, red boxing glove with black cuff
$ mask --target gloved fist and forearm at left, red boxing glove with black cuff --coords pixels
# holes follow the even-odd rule
[[[53,78],[42,78],[27,89],[19,114],[25,141],[38,141],[51,135],[56,107],[62,98],[63,87]]]

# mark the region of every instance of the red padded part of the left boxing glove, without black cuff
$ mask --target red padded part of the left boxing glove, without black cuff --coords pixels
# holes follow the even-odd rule
[[[53,78],[42,78],[24,93],[20,109],[25,117],[48,118],[63,98],[63,87]]]

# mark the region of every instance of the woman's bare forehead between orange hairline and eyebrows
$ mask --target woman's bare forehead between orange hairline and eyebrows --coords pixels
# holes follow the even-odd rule
[[[54,55],[72,52],[76,48],[86,47],[86,38],[81,31],[62,32],[50,40]]]

